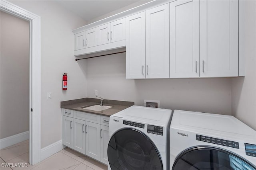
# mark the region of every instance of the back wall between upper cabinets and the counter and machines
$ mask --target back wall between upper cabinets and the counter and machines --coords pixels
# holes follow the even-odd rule
[[[230,78],[126,79],[125,53],[86,59],[88,97],[94,90],[104,99],[144,106],[144,99],[160,100],[160,107],[231,115]]]

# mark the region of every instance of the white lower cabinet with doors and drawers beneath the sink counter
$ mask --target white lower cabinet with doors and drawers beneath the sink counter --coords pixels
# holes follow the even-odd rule
[[[108,122],[109,117],[75,111],[74,116],[65,116],[63,109],[62,144],[104,164],[108,164]],[[99,117],[94,123],[94,117]],[[88,119],[84,118],[87,117]],[[89,121],[86,121],[89,120]],[[101,120],[101,121],[100,121]]]

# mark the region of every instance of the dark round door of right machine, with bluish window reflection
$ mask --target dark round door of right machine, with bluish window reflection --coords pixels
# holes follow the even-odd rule
[[[179,154],[172,170],[256,170],[231,152],[214,147],[196,147]]]

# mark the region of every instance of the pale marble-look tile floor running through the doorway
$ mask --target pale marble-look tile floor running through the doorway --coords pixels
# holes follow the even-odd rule
[[[0,150],[0,170],[107,170],[108,167],[70,148],[46,158],[36,165],[28,163],[28,140]],[[23,165],[17,167],[15,165]],[[9,164],[11,167],[3,167]],[[26,166],[26,167],[25,167]]]

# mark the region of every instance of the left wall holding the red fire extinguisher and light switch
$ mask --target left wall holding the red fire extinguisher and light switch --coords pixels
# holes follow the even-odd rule
[[[41,147],[62,138],[60,101],[86,97],[86,77],[74,60],[72,29],[85,21],[54,1],[10,1],[41,17]],[[68,90],[62,91],[62,73]],[[46,99],[52,92],[52,99]]]

